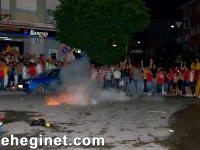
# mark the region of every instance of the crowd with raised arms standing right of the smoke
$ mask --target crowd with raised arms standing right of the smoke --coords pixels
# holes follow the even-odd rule
[[[156,66],[152,59],[150,64],[133,66],[130,60],[120,62],[116,66],[92,65],[91,78],[97,80],[102,89],[114,88],[127,95],[158,94],[174,97],[199,97],[200,63],[181,62],[180,66],[164,69]]]

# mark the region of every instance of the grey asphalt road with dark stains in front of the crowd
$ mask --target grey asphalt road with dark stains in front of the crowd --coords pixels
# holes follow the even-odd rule
[[[4,115],[2,137],[14,134],[19,138],[24,136],[30,138],[43,134],[46,137],[67,135],[69,141],[75,137],[103,137],[105,139],[104,146],[67,147],[72,150],[184,150],[186,146],[182,147],[181,139],[187,134],[182,135],[183,131],[179,129],[185,116],[191,118],[189,116],[194,115],[193,111],[199,109],[197,104],[200,103],[200,100],[196,98],[141,96],[130,97],[129,101],[113,99],[87,106],[65,104],[48,106],[44,99],[45,96],[34,94],[0,93],[0,114]],[[190,115],[187,115],[188,113]],[[36,117],[49,121],[52,127],[29,126]],[[199,120],[196,118],[190,122],[199,125]],[[188,126],[190,124],[185,127]],[[195,127],[198,126],[193,126],[193,134],[190,135],[190,139],[194,137],[191,140],[193,144],[199,138],[195,134]],[[199,147],[190,147],[190,150],[193,148],[196,150]],[[29,148],[7,146],[3,149],[27,150]],[[40,149],[66,149],[66,147],[41,146]]]

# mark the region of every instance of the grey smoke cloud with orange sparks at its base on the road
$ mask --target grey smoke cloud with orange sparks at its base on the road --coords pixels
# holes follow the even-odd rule
[[[63,67],[59,77],[63,85],[57,94],[48,97],[47,101],[53,100],[57,104],[88,105],[101,101],[129,100],[124,93],[117,93],[113,89],[101,90],[97,87],[97,81],[90,78],[90,59],[85,53],[82,53],[79,59]]]

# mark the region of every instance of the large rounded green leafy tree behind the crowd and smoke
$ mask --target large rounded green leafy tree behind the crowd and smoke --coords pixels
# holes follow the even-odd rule
[[[57,39],[86,51],[97,63],[118,62],[125,56],[131,34],[142,32],[150,22],[149,9],[142,0],[60,2],[54,13]]]

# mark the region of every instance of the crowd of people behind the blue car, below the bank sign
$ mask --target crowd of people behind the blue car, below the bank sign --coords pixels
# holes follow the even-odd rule
[[[36,57],[35,54],[20,54],[16,50],[0,53],[0,90],[18,90],[18,83],[22,79],[34,77],[45,70],[62,67],[63,62],[56,58],[45,59],[44,54]]]

